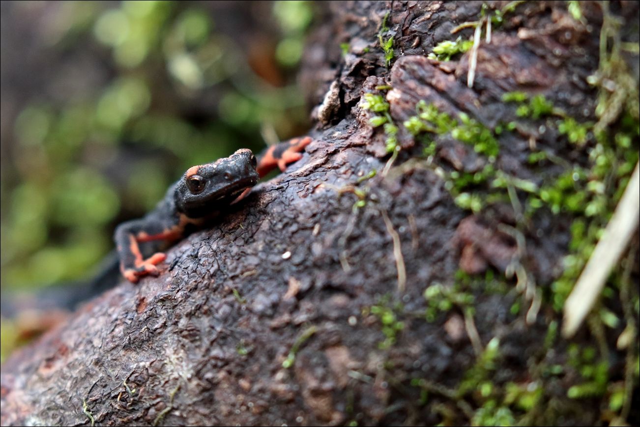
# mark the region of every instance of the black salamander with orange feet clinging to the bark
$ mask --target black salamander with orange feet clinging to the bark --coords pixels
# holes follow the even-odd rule
[[[241,149],[229,157],[189,168],[170,186],[153,211],[116,228],[114,239],[122,275],[133,283],[144,275],[159,275],[156,265],[166,255],[157,252],[144,259],[140,243],[171,244],[182,239],[188,227],[202,227],[222,209],[244,197],[276,166],[284,172],[289,163],[301,159],[301,151],[311,141],[308,136],[294,138],[269,147],[258,158],[251,150]]]

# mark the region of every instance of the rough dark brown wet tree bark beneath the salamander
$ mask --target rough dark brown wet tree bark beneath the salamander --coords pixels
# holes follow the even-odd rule
[[[441,135],[429,160],[427,143],[401,124],[425,101],[495,129],[516,119],[516,107],[502,101],[513,91],[543,94],[568,115],[594,120],[596,91],[585,79],[598,68],[602,18],[595,5],[583,8],[588,25],[564,2],[518,6],[479,45],[468,88],[470,52],[448,62],[426,55],[438,42],[468,38],[474,28],[451,29],[479,19],[481,6],[333,4],[301,73],[316,106],[305,157],[174,246],[159,277],[122,282],[13,355],[2,368],[2,424],[469,424],[486,399],[476,383],[461,382],[478,375],[520,384],[531,363],[563,363],[543,346],[559,314],[545,304],[527,318],[531,299],[504,271],[518,257],[548,289],[568,252],[569,218],[536,214],[523,254],[506,231],[519,220],[508,198],[472,214],[454,203],[441,172],[491,164],[539,182],[561,165],[529,167],[532,145],[566,163],[584,162],[586,149],[540,120],[502,134],[497,156]],[[636,10],[621,13],[637,15],[637,6],[625,7]],[[393,36],[388,67],[383,22],[383,41]],[[401,151],[388,173],[388,135],[370,124],[376,113],[362,108],[364,93],[383,96],[400,124]],[[508,288],[470,287],[461,295],[473,296],[472,305],[454,301],[427,321],[425,289],[458,289],[456,271],[489,271],[500,280],[487,276],[486,284]],[[497,369],[479,367],[495,337]],[[532,421],[598,421],[594,401],[568,399],[567,384],[566,376],[545,384],[540,401],[556,406],[538,408]]]

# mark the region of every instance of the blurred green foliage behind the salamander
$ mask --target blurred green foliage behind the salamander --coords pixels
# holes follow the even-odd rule
[[[213,3],[66,1],[47,12],[58,31],[49,48],[90,45],[109,78],[68,102],[29,101],[17,115],[15,173],[2,182],[3,287],[88,275],[117,223],[152,209],[184,170],[240,147],[259,151],[264,129],[282,140],[305,130],[302,93],[288,82],[314,4],[276,1],[262,17],[273,34],[239,29],[236,38],[217,30]],[[249,58],[264,39],[266,60]]]

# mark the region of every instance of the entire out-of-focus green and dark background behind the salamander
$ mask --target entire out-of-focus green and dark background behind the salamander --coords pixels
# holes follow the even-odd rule
[[[190,166],[305,133],[296,72],[319,7],[1,1],[3,314],[7,295],[90,279],[116,225]],[[60,319],[11,316],[3,360]]]

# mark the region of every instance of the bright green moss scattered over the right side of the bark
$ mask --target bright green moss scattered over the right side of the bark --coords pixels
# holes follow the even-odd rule
[[[513,3],[514,7],[515,4],[519,3]],[[570,4],[570,8],[572,7],[575,8],[578,5],[573,4],[572,6]],[[580,17],[580,19],[583,18]],[[609,41],[611,42],[611,40]],[[611,46],[611,43],[605,45]],[[443,44],[442,47],[454,49],[452,42]],[[439,53],[455,54],[452,50],[443,50]],[[440,59],[444,60],[445,58],[440,57]],[[616,76],[613,69],[614,67],[607,74],[607,78],[616,81],[616,90],[628,90],[631,87],[630,83]],[[607,85],[607,82],[602,76],[596,76],[593,79],[593,84]],[[604,86],[602,87],[607,90]],[[609,85],[609,88],[611,87]],[[510,92],[503,96],[502,101],[515,104],[513,108],[520,119],[517,122],[500,124],[495,129],[487,129],[464,113],[459,117],[451,117],[447,113],[438,111],[433,104],[428,105],[424,101],[420,101],[416,105],[415,115],[405,120],[403,125],[417,141],[422,142],[424,156],[428,157],[424,164],[432,168],[444,180],[444,188],[450,191],[459,207],[474,213],[481,213],[488,205],[496,202],[511,202],[516,213],[519,210],[522,213],[518,217],[516,225],[516,229],[521,231],[530,229],[532,218],[539,209],[548,210],[553,216],[562,215],[571,220],[569,254],[561,260],[563,272],[552,283],[550,293],[547,294],[548,300],[542,302],[543,306],[550,303],[555,310],[560,311],[580,272],[591,256],[596,242],[602,236],[604,227],[611,218],[638,160],[640,120],[638,120],[637,111],[634,110],[634,104],[620,101],[621,99],[637,99],[636,92],[637,88],[633,91],[629,90],[629,93],[624,96],[619,93],[617,98],[612,96],[611,92],[608,95],[605,93],[606,96],[603,95],[600,101],[602,108],[596,111],[602,117],[600,124],[604,123],[606,119],[606,125],[602,125],[600,128],[591,122],[580,122],[578,118],[570,117],[563,110],[554,106],[544,95],[530,96],[524,92]],[[617,106],[616,102],[618,102]],[[624,108],[622,109],[620,106]],[[609,108],[619,108],[617,114],[620,116],[620,120],[616,122],[614,121],[616,119],[607,116]],[[620,114],[620,111],[624,112]],[[383,116],[386,113],[388,110],[379,113],[379,115]],[[582,150],[584,154],[588,154],[588,161],[569,165],[563,159],[556,157],[552,151],[532,150],[528,161],[532,171],[541,176],[540,182],[522,179],[499,170],[496,165],[500,163],[496,160],[500,156],[498,142],[500,136],[516,129],[538,127],[541,119],[545,120],[547,128],[552,131],[557,129],[559,138],[566,141],[568,149],[575,152]],[[394,124],[390,117],[378,120],[380,120],[379,125],[385,125],[389,128],[388,134],[395,135],[394,132],[397,128],[390,129],[388,125],[397,126],[397,124]],[[535,120],[538,120],[537,124],[533,122]],[[615,128],[606,127],[613,123],[616,124]],[[469,173],[464,170],[451,170],[449,165],[438,165],[435,154],[438,151],[438,140],[441,136],[451,136],[451,138],[474,147],[474,150],[484,157],[483,170]],[[584,156],[582,158],[584,159]],[[552,163],[556,166],[547,167]],[[555,172],[559,168],[564,168],[564,170],[559,173]],[[522,204],[523,197],[524,204]],[[490,269],[490,271],[493,270]],[[615,299],[620,282],[620,271],[614,270],[609,280],[610,284],[604,288],[603,295]],[[436,321],[436,319],[442,318],[442,313],[449,312],[456,307],[465,312],[465,318],[472,319],[474,296],[468,293],[467,289],[477,289],[474,287],[476,284],[483,284],[484,292],[490,291],[491,284],[502,286],[497,286],[500,289],[508,289],[509,287],[502,275],[500,275],[500,279],[487,275],[484,280],[481,280],[481,278],[470,277],[462,271],[458,271],[456,281],[452,286],[433,283],[425,289],[426,320],[428,322]],[[640,311],[638,296],[634,296],[633,304],[637,315]],[[529,302],[527,302],[528,306]],[[522,316],[522,312],[525,311],[523,307],[524,302],[517,300],[511,306],[511,314]],[[388,316],[390,323],[395,320],[392,316]],[[621,316],[618,312],[599,307],[591,320],[598,323],[600,328],[602,326],[616,328],[620,325]],[[557,347],[558,325],[557,319],[550,319],[547,334],[541,343],[541,348],[544,349],[542,353],[548,357],[563,351]],[[602,350],[602,343],[599,345],[600,350],[606,352]],[[635,361],[637,365],[637,360],[640,359],[636,354],[637,345],[634,350],[630,351],[632,351],[633,357],[627,359]],[[557,381],[559,380],[556,378],[557,376],[564,376],[565,380],[575,378],[572,380],[573,383],[569,384],[570,387],[567,389],[564,399],[604,396],[611,410],[622,411],[625,393],[620,387],[618,389],[611,388],[612,385],[608,384],[609,366],[603,360],[605,355],[598,355],[598,351],[593,347],[580,347],[575,344],[568,346],[565,353],[566,363],[564,364],[547,364],[545,361],[547,359],[544,357],[540,359],[538,356],[532,357],[527,362],[531,376],[530,382],[501,385],[493,381],[501,360],[497,341],[492,341],[491,345],[478,357],[476,364],[465,372],[463,381],[457,389],[448,391],[438,389],[436,392],[456,401],[459,406],[464,405],[461,403],[461,399],[473,396],[478,409],[472,417],[469,415],[470,412],[465,412],[472,418],[472,424],[507,425],[524,423],[524,420],[529,423],[532,420],[540,421],[545,417],[555,416],[550,415],[548,410],[543,410],[542,407],[544,405],[563,405],[562,399],[549,398],[543,391],[549,378],[554,378]],[[640,368],[635,366],[633,369],[634,375],[637,377]],[[429,385],[426,380],[418,378],[412,380],[412,385],[421,388],[420,401],[423,404],[428,403],[428,393],[433,391],[434,387],[437,389],[436,386],[438,386]],[[435,407],[433,411],[438,412]],[[542,413],[544,415],[541,415]],[[542,423],[548,423],[548,421],[542,421]]]

